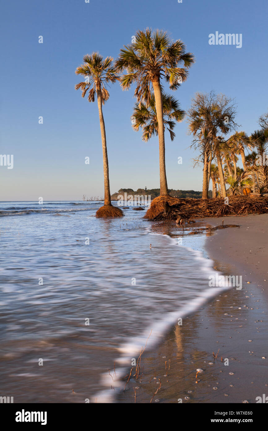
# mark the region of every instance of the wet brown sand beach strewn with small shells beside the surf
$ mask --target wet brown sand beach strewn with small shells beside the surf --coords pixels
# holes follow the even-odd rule
[[[160,346],[145,350],[141,377],[129,379],[117,402],[134,403],[137,388],[136,403],[150,403],[160,382],[152,403],[256,403],[256,397],[268,395],[268,215],[225,217],[224,223],[240,228],[208,236],[206,250],[216,270],[242,275],[242,289],[223,292],[171,328]],[[203,372],[196,378],[197,369]]]

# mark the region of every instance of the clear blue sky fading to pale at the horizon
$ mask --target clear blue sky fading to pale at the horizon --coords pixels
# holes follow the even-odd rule
[[[0,166],[2,201],[104,195],[98,106],[75,91],[82,79],[74,72],[87,53],[116,59],[137,30],[163,29],[194,54],[187,81],[172,92],[182,109],[197,91],[226,94],[248,134],[268,111],[266,0],[14,0],[0,10],[0,154],[13,155],[13,169]],[[216,31],[242,34],[242,47],[209,44]],[[111,85],[103,107],[111,193],[159,188],[158,138],[146,143],[132,129],[134,89]],[[165,138],[168,187],[200,191],[187,122],[175,133],[173,142]]]

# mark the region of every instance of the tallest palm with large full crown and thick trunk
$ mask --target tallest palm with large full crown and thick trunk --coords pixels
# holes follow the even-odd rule
[[[155,109],[158,123],[160,195],[168,195],[165,166],[165,137],[163,119],[163,87],[160,84],[164,76],[171,90],[177,90],[181,82],[188,77],[187,69],[194,63],[194,56],[185,52],[182,41],[171,41],[162,30],[137,31],[133,42],[120,50],[115,62],[117,71],[126,70],[120,81],[123,90],[129,90],[136,83],[135,97],[138,103],[149,106],[151,90],[154,91]],[[178,67],[183,64],[184,68]]]

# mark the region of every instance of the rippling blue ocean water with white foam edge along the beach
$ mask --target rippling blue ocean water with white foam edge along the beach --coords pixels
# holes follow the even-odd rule
[[[0,381],[14,403],[116,400],[146,341],[224,290],[145,211],[96,219],[102,204],[0,203]]]

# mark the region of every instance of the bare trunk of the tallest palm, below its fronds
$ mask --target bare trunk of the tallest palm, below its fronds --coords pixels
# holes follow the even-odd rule
[[[158,140],[159,140],[159,166],[160,166],[160,196],[168,195],[166,181],[166,163],[165,163],[165,136],[163,121],[163,97],[160,87],[160,79],[152,81],[154,87],[155,109],[158,123]]]

